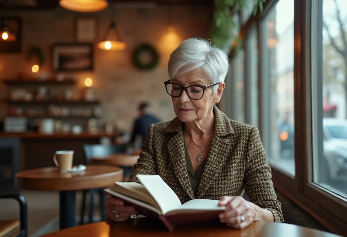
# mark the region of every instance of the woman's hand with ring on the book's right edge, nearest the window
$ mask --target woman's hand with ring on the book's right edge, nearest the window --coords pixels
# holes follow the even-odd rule
[[[225,210],[219,214],[220,222],[235,229],[243,229],[259,220],[258,207],[252,202],[246,201],[242,196],[222,196],[218,206],[225,206]]]

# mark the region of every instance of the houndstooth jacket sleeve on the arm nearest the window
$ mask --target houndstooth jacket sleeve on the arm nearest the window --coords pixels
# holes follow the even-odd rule
[[[271,211],[275,222],[284,222],[281,203],[277,200],[271,180],[271,168],[266,161],[257,128],[253,128],[249,135],[246,159],[244,184],[249,201]]]

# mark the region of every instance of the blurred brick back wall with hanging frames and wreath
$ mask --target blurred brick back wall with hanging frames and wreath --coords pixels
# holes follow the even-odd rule
[[[163,83],[168,78],[170,53],[180,41],[206,35],[211,10],[205,6],[174,6],[170,11],[167,6],[114,9],[114,18],[127,43],[127,49],[119,52],[103,51],[95,46],[92,72],[64,74],[77,79],[76,90],[83,88],[85,78],[92,78],[96,93],[102,101],[102,120],[110,121],[123,130],[129,131],[132,120],[137,115],[137,104],[144,99],[152,103],[153,112],[162,120],[171,120],[175,113]],[[74,42],[76,17],[97,17],[100,37],[111,19],[110,8],[89,14],[57,8],[53,11],[10,11],[6,15],[22,17],[23,50],[22,53],[0,53],[0,80],[31,71],[33,62],[28,62],[25,54],[32,45],[40,46],[45,55],[45,62],[40,70],[52,73],[51,46],[54,43]],[[176,29],[174,37],[168,36],[168,24]],[[140,71],[132,64],[133,50],[144,42],[154,45],[160,55],[158,66],[150,71]],[[6,87],[0,84],[0,97],[6,97],[7,93]],[[6,112],[6,106],[0,104],[0,118]]]

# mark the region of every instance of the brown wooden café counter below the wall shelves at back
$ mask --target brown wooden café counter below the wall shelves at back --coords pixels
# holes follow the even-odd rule
[[[0,132],[0,148],[2,144],[19,144],[19,169],[33,169],[46,166],[54,166],[53,154],[58,150],[74,150],[74,165],[85,164],[83,144],[99,144],[101,139],[112,139],[114,133],[100,132],[96,134],[41,134],[27,133],[3,133]],[[1,144],[2,143],[2,144]],[[16,163],[17,163],[16,162]]]

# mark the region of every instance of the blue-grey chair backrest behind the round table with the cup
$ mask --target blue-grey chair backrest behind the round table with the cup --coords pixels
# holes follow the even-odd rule
[[[85,163],[90,164],[91,157],[107,156],[115,153],[125,153],[126,146],[107,146],[102,144],[83,144]]]

